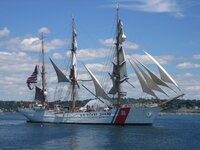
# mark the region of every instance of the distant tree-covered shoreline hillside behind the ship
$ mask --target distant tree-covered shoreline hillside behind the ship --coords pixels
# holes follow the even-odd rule
[[[76,101],[76,106],[81,107],[84,106],[90,99],[88,100],[82,100],[82,101]],[[159,103],[163,102],[165,100],[154,100],[154,99],[123,99],[122,104],[127,103]],[[17,108],[19,107],[29,107],[29,105],[32,102],[27,101],[0,101],[0,109],[5,112],[10,111],[17,111]],[[71,101],[55,101],[50,102],[49,107],[53,108],[55,104],[61,104],[66,107],[71,107],[72,102]],[[176,100],[172,103],[169,103],[167,107],[163,110],[163,112],[170,112],[170,113],[177,113],[177,112],[200,112],[200,100]]]

